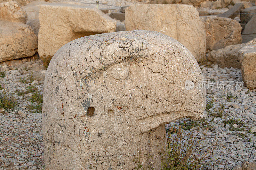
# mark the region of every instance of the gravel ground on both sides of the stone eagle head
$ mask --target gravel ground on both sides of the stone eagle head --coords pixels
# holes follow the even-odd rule
[[[0,110],[0,170],[44,169],[40,102],[46,70],[36,56],[0,65],[0,72],[5,74],[0,77],[0,93],[17,100],[15,107]],[[176,123],[184,125],[184,134],[205,137],[202,153],[207,147],[217,146],[208,151],[212,153],[206,159],[208,169],[232,169],[246,160],[255,161],[256,92],[246,87],[235,89],[236,82],[242,81],[240,69],[221,69],[217,65],[201,69],[205,81],[215,83],[211,84],[213,89],[207,89],[204,119],[184,118]],[[228,85],[217,89],[218,81],[235,84],[230,89]],[[208,131],[203,135],[205,128]],[[185,139],[186,135],[183,142]]]

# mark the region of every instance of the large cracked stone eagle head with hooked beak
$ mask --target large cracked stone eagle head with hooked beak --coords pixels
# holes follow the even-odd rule
[[[205,89],[193,55],[154,31],[123,31],[71,41],[44,80],[46,169],[161,168],[165,124],[201,119]],[[94,109],[93,109],[93,108]],[[162,154],[160,154],[160,152]]]

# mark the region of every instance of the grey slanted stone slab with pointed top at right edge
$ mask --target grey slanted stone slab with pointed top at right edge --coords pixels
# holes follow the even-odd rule
[[[245,25],[242,38],[242,42],[248,42],[256,38],[256,14],[254,14],[250,21]]]

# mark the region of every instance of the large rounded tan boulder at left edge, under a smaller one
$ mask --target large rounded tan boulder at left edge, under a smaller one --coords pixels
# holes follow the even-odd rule
[[[0,20],[0,37],[0,62],[36,53],[37,37],[26,24]]]

